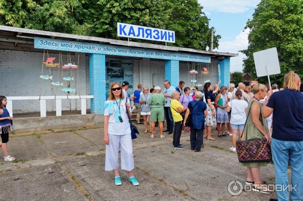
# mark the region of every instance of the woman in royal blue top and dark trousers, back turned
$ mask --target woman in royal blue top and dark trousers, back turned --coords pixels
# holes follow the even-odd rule
[[[203,131],[205,124],[205,117],[207,116],[206,103],[200,101],[202,93],[200,91],[195,92],[195,99],[188,104],[186,114],[184,117],[183,125],[191,112],[190,122],[190,148],[194,152],[200,152],[203,146]]]

